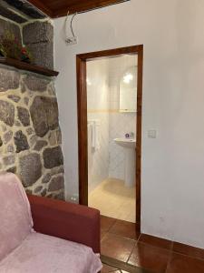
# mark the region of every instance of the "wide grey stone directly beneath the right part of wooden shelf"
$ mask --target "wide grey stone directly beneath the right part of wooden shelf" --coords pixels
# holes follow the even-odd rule
[[[49,80],[39,76],[28,75],[24,78],[24,84],[31,91],[44,92],[49,84]]]

